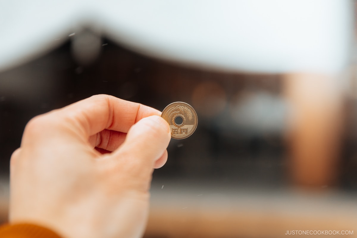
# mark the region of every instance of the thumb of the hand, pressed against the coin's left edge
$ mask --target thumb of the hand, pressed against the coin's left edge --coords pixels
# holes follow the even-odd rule
[[[155,161],[165,152],[170,139],[169,124],[163,118],[145,117],[130,128],[124,143],[112,156],[124,159],[125,162],[122,162],[126,165],[135,164],[136,171],[151,171]]]

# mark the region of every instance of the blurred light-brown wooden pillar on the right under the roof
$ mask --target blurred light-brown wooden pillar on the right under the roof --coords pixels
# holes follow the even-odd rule
[[[337,182],[342,123],[340,82],[332,75],[285,76],[291,108],[290,176],[297,186],[317,188]]]

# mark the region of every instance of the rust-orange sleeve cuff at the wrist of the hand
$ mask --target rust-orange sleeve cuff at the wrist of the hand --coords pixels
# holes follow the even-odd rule
[[[62,238],[48,228],[30,223],[4,224],[0,226],[1,238]]]

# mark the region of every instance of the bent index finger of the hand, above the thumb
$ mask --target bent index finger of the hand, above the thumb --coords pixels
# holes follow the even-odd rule
[[[85,137],[104,129],[126,133],[140,119],[161,115],[152,107],[110,95],[94,95],[53,113],[59,120],[75,126],[75,130]]]

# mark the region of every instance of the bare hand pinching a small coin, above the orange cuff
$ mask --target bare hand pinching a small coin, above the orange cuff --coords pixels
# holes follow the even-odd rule
[[[159,115],[96,95],[33,118],[11,157],[10,223],[66,238],[141,237],[153,168],[170,141]]]

